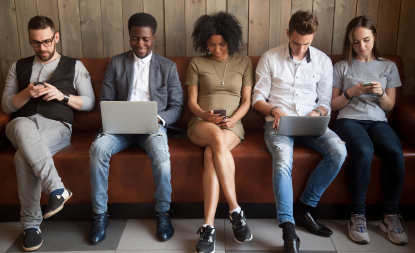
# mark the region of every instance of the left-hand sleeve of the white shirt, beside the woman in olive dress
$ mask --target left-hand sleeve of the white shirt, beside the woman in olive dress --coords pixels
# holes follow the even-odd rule
[[[255,71],[255,87],[252,91],[252,109],[259,100],[268,100],[271,90],[271,71],[266,53],[259,59],[258,66]]]

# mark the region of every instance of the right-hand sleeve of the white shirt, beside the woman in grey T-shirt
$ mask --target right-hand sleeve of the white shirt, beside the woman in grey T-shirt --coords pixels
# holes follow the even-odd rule
[[[317,105],[324,107],[327,116],[332,112],[332,92],[333,92],[333,65],[329,57],[324,63],[324,72],[317,82]]]

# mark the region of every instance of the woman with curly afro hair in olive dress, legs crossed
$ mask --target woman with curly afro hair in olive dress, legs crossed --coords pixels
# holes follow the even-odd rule
[[[205,221],[198,231],[196,252],[210,253],[215,250],[214,218],[219,186],[229,204],[235,240],[243,243],[252,239],[245,213],[236,201],[235,163],[231,150],[244,141],[241,118],[249,110],[254,80],[250,59],[237,54],[243,41],[241,25],[235,16],[224,12],[203,15],[194,28],[193,47],[205,55],[193,58],[187,69],[185,84],[188,105],[193,112],[187,137],[190,142],[206,147],[203,173]]]

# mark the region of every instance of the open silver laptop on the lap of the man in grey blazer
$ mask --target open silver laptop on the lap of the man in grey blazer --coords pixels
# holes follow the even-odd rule
[[[101,101],[102,127],[109,134],[157,133],[157,102]]]

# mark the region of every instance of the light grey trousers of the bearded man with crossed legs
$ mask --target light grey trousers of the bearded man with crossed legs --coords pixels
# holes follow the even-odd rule
[[[70,130],[61,122],[42,116],[17,117],[6,126],[6,136],[16,148],[17,184],[22,228],[39,228],[41,191],[65,188],[52,156],[70,145]]]

